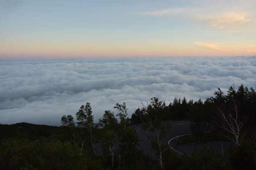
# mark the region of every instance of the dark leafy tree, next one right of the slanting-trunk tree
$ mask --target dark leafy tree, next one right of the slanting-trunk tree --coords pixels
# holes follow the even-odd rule
[[[118,128],[117,119],[114,116],[114,113],[111,111],[105,111],[102,118],[99,119],[99,125],[102,127],[103,135],[102,135],[102,147],[103,150],[109,150],[111,154],[111,169],[114,169],[114,155],[116,151],[116,147],[113,144],[113,138],[115,136],[115,131]]]

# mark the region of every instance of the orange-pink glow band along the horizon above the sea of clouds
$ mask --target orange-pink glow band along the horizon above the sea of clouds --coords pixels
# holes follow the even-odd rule
[[[83,58],[83,57],[204,57],[256,55],[255,45],[222,45],[204,42],[174,44],[160,42],[119,44],[6,44],[0,59],[8,58]]]

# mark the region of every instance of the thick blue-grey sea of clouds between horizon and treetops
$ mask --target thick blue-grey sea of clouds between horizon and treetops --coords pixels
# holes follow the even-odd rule
[[[0,61],[0,122],[60,125],[86,102],[97,121],[117,102],[131,114],[153,96],[204,100],[233,83],[256,89],[256,57]]]

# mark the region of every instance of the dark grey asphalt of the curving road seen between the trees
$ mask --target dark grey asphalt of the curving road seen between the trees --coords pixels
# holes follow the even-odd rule
[[[190,130],[190,122],[188,120],[172,120],[169,121],[169,130],[166,131],[166,135],[161,142],[163,144],[168,145],[168,142],[170,139],[175,138],[176,136],[186,135],[188,133],[191,133]],[[134,128],[137,132],[137,136],[139,139],[137,149],[143,150],[145,154],[148,154],[153,159],[156,158],[155,156],[155,150],[151,149],[151,142],[148,139],[147,134],[142,130],[141,125],[134,125],[130,128]],[[174,149],[177,150],[177,154],[181,155],[188,154],[191,155],[193,152],[199,153],[204,148],[211,148],[213,151],[217,153],[226,153],[229,147],[232,147],[231,142],[207,142],[207,143],[195,143],[195,144],[182,144],[182,145],[176,145],[176,140],[178,138],[172,140],[169,144]],[[115,141],[116,147],[118,141]],[[100,142],[96,144],[96,148],[101,153],[101,144]]]

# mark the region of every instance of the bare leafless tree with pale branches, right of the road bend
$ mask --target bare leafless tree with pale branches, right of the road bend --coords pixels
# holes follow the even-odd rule
[[[218,108],[217,125],[226,130],[229,135],[227,137],[232,140],[236,145],[240,145],[240,141],[244,136],[242,127],[245,119],[239,115],[239,106],[237,102],[233,102],[230,108]]]

